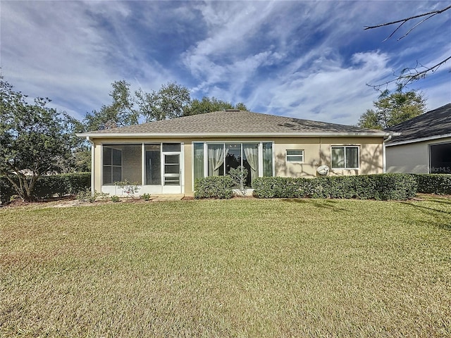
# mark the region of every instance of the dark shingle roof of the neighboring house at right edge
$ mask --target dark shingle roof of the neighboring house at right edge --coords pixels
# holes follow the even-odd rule
[[[387,144],[419,142],[423,139],[451,136],[451,104],[428,111],[398,125],[386,129],[389,132],[401,132]]]

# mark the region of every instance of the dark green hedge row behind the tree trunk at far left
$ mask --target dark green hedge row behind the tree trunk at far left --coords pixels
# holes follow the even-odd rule
[[[35,186],[36,199],[49,199],[50,197],[74,195],[91,187],[91,173],[70,173],[60,175],[41,176]],[[0,177],[0,201],[8,203],[16,192],[12,184],[5,177]]]

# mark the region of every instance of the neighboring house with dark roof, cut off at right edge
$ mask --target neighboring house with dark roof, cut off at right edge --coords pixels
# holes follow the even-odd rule
[[[386,142],[388,173],[451,174],[451,104],[386,131],[401,132]]]

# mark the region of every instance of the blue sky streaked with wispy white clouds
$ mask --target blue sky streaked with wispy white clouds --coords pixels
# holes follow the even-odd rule
[[[259,113],[354,125],[378,92],[416,63],[451,54],[451,10],[383,42],[366,25],[451,1],[4,1],[4,80],[81,119],[111,103],[111,82],[243,102]],[[451,102],[451,63],[411,85],[427,108]],[[389,89],[393,89],[390,87]]]

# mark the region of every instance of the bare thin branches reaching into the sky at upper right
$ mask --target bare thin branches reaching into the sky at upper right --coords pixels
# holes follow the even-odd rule
[[[449,9],[451,9],[451,6],[447,6],[445,8],[439,9],[437,11],[431,11],[428,13],[414,15],[409,18],[395,20],[390,23],[381,23],[380,25],[366,26],[364,28],[364,30],[372,30],[372,29],[378,28],[378,27],[397,25],[396,29],[393,30],[392,34],[390,34],[390,36],[384,40],[384,41],[386,41],[386,40],[390,39],[391,37],[393,37],[393,35],[395,35],[395,32],[397,32],[397,30],[399,30],[402,27],[402,25],[404,25],[404,23],[421,19],[418,23],[416,23],[416,25],[414,25],[404,35],[402,35],[402,37],[398,38],[397,41],[399,41],[400,39],[407,37],[407,35],[409,35],[409,33],[412,32],[412,30],[414,30],[416,27],[418,27],[419,25],[424,23],[426,20],[429,20],[430,18],[433,18],[435,15],[441,14]],[[426,66],[421,65],[417,62],[416,66],[414,68],[404,68],[403,70],[401,70],[401,72],[399,74],[394,74],[395,79],[387,81],[387,82],[383,82],[382,84],[374,84],[374,85],[371,85],[371,87],[374,87],[375,89],[380,89],[381,87],[386,86],[391,82],[396,82],[399,88],[405,87],[405,86],[407,86],[407,84],[409,84],[411,82],[423,79],[424,77],[426,77],[426,75],[428,75],[430,73],[434,73],[436,70],[438,70],[438,68],[440,68],[441,65],[445,64],[447,61],[450,61],[450,60],[451,60],[451,56],[447,56],[443,60],[439,61],[438,63],[435,63],[434,65],[426,65]]]

